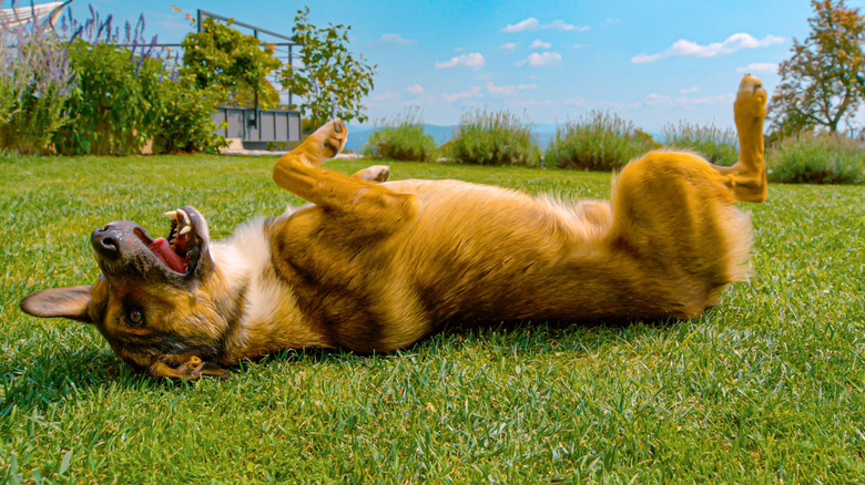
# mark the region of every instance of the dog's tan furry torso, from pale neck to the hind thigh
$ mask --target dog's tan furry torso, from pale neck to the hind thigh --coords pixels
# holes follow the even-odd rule
[[[224,285],[245,292],[226,354],[388,351],[455,318],[557,318],[609,308],[603,298],[574,309],[583,303],[574,298],[579,270],[561,265],[596,265],[607,230],[582,221],[579,208],[455,180],[388,185],[417,194],[421,208],[397,234],[358,235],[349,220],[307,206],[244,225],[214,245]],[[562,309],[562,301],[576,303]]]

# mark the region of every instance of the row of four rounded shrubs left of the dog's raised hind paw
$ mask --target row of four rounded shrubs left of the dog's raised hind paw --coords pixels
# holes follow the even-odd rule
[[[531,125],[507,111],[477,110],[464,113],[450,140],[436,146],[424,133],[417,111],[381,120],[363,152],[372,158],[432,162],[439,157],[474,165],[547,165],[588,171],[621,168],[660,144],[633,123],[609,112],[592,111],[584,117],[559,126],[545,151],[538,145]],[[682,125],[665,130],[676,146],[735,155],[735,136],[718,137],[714,127]],[[725,133],[726,134],[726,133]],[[725,146],[729,145],[729,146]],[[712,159],[719,157],[711,156]],[[729,163],[732,164],[734,158]]]

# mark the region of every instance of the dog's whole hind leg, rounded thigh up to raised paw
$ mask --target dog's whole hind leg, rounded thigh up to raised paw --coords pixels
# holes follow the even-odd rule
[[[638,271],[661,277],[645,286],[658,290],[643,297],[647,306],[671,298],[664,303],[670,314],[695,316],[715,305],[727,283],[750,275],[751,220],[734,204],[766,197],[765,103],[760,80],[745,75],[734,104],[740,158],[732,167],[652,152],[619,174],[608,241],[621,259],[635,260]]]

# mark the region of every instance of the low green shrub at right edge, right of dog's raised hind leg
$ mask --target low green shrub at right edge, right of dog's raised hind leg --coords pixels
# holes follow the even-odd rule
[[[802,133],[776,143],[766,154],[769,179],[791,184],[865,182],[865,145],[830,133]]]

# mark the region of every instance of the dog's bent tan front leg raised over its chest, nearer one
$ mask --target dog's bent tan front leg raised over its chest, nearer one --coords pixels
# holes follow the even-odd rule
[[[393,230],[417,213],[414,194],[398,194],[362,178],[329,172],[320,165],[345,145],[345,124],[334,120],[283,155],[274,167],[276,185],[334,215],[350,214],[369,231]]]

